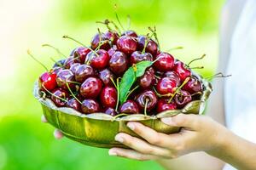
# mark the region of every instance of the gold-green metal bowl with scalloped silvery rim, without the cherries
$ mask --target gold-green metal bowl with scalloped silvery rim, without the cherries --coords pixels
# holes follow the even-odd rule
[[[160,122],[160,118],[174,116],[179,113],[202,114],[205,109],[206,100],[212,92],[211,83],[206,80],[202,80],[202,82],[204,91],[203,94],[201,94],[200,100],[191,101],[182,110],[163,111],[156,116],[136,114],[114,118],[104,113],[84,115],[71,108],[57,107],[50,99],[43,99],[40,96],[38,82],[35,83],[33,94],[41,103],[44,116],[49,124],[60,129],[67,138],[95,147],[125,148],[125,145],[114,140],[117,133],[128,133],[138,137],[136,133],[133,133],[126,127],[127,122],[141,122],[157,132],[170,134],[177,133],[180,127],[167,126],[163,122]]]

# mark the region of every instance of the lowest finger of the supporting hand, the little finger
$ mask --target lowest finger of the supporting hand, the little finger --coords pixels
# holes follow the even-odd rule
[[[127,150],[122,148],[112,148],[108,151],[109,156],[121,156],[137,161],[156,160],[157,156],[145,155],[135,150]]]

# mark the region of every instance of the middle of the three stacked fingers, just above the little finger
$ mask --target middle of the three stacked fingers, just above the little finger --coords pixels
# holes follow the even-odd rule
[[[115,140],[129,146],[131,149],[136,150],[146,155],[169,157],[171,155],[170,150],[148,144],[142,139],[137,139],[126,133],[118,133],[115,136]]]

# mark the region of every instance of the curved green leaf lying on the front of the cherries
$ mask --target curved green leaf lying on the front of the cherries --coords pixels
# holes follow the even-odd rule
[[[137,77],[142,77],[145,70],[151,65],[151,61],[141,61],[125,71],[119,84],[119,102],[121,105],[125,102],[126,96],[129,94],[131,86],[137,80]]]

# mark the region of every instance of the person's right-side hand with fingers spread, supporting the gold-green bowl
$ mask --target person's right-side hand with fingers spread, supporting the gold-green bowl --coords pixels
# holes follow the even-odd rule
[[[208,116],[178,114],[162,118],[161,121],[170,126],[182,127],[181,131],[173,134],[158,133],[139,122],[128,122],[127,127],[144,140],[119,133],[115,140],[129,146],[131,150],[112,148],[109,155],[139,161],[176,158],[199,150],[218,150],[227,137],[225,134],[228,130]]]

